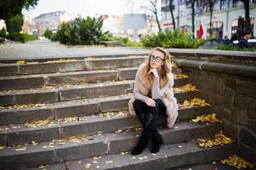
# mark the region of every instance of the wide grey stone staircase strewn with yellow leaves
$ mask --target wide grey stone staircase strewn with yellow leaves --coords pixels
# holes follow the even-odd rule
[[[160,117],[160,152],[131,156],[141,127],[128,115],[134,77],[145,56],[87,57],[0,65],[0,169],[167,169],[219,160],[236,143],[200,148],[222,123],[189,120],[210,107],[180,107],[174,128]],[[173,72],[180,73],[174,67]],[[175,78],[175,87],[189,78]],[[175,92],[178,102],[200,92]]]

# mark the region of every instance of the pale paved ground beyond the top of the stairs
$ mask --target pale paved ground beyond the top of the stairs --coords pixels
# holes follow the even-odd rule
[[[104,46],[65,46],[59,42],[33,41],[26,43],[7,43],[0,45],[0,60],[31,59],[65,56],[88,56],[100,54],[138,54],[149,50],[141,48],[106,48]]]

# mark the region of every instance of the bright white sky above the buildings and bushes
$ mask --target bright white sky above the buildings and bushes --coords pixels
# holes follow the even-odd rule
[[[37,7],[24,11],[36,17],[39,14],[65,10],[76,17],[78,14],[85,16],[99,16],[100,14],[128,14],[151,13],[140,6],[150,6],[148,0],[39,0]]]

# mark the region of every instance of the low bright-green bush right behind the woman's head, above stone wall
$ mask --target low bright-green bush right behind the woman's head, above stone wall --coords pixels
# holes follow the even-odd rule
[[[157,34],[141,37],[141,42],[145,47],[198,48],[206,40],[193,40],[191,34],[165,30]]]

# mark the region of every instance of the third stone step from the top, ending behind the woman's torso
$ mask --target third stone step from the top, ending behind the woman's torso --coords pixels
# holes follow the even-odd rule
[[[185,85],[187,78],[175,78],[175,87]],[[0,91],[0,105],[41,104],[71,99],[90,99],[132,92],[134,81],[88,83]]]

